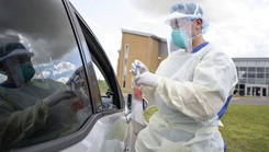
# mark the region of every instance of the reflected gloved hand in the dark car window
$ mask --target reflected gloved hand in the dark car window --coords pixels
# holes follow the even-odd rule
[[[76,96],[77,96],[76,93],[71,90],[59,89],[55,93],[46,97],[44,102],[47,104],[48,107],[52,107],[64,100],[69,100]]]

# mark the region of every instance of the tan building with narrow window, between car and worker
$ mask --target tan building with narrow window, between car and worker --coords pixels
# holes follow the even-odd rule
[[[132,77],[128,72],[135,59],[144,62],[150,72],[155,72],[166,57],[159,58],[159,39],[152,35],[139,35],[122,32],[122,45],[117,60],[117,80],[120,86],[132,89]]]

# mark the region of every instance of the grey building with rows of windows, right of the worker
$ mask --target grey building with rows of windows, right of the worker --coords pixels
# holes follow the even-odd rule
[[[234,58],[238,83],[235,93],[244,96],[269,96],[269,59]]]

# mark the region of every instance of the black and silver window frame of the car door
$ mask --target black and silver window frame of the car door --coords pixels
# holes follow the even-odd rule
[[[124,97],[121,93],[121,89],[120,89],[120,85],[117,84],[115,74],[114,74],[112,67],[111,67],[111,63],[110,63],[105,52],[103,51],[100,43],[97,40],[97,37],[94,36],[94,34],[90,31],[90,28],[88,27],[86,22],[82,20],[82,17],[76,11],[76,9],[70,4],[70,2],[68,0],[63,0],[63,5],[66,8],[67,15],[69,17],[70,25],[72,26],[74,35],[75,35],[75,38],[77,40],[79,51],[81,54],[81,61],[83,62],[83,66],[85,66],[85,72],[86,72],[86,75],[88,78],[87,83],[89,85],[89,92],[91,94],[90,101],[92,102],[94,100],[99,100],[99,102],[101,102],[101,98],[100,98],[100,92],[98,90],[99,86],[97,83],[97,78],[94,74],[93,65],[92,63],[89,65],[89,61],[91,62],[91,58],[89,56],[90,50],[88,48],[88,45],[86,43],[85,36],[82,34],[82,31],[81,31],[81,27],[80,27],[80,24],[79,24],[77,17],[79,17],[79,20],[83,23],[83,25],[86,25],[89,35],[92,37],[92,43],[97,47],[97,50],[102,50],[102,51],[99,51],[99,54],[100,54],[99,56],[101,56],[104,59],[104,61],[107,62],[107,66],[108,66],[108,70],[110,71],[110,73],[112,75],[111,79],[113,79],[112,82],[114,83],[113,87],[117,91],[115,93],[116,94],[115,100],[119,100],[119,102],[120,102],[120,104],[117,105],[120,107],[120,109],[107,110],[107,112],[100,113],[97,108],[97,105],[96,105],[97,102],[92,102],[93,115],[85,122],[85,125],[78,131],[76,131],[69,136],[59,138],[59,139],[51,140],[51,141],[43,142],[40,144],[34,144],[34,145],[26,147],[23,149],[18,149],[15,151],[24,151],[24,152],[26,152],[26,151],[59,151],[59,150],[70,148],[75,144],[79,144],[79,143],[81,143],[81,141],[83,139],[86,139],[89,136],[91,129],[94,127],[94,125],[98,121],[102,121],[101,119],[105,119],[107,121],[111,122],[111,120],[112,120],[112,118],[110,118],[111,114],[119,115],[119,116],[116,116],[117,118],[124,119],[126,122],[128,122],[128,120],[126,119],[126,116],[130,113],[127,112],[127,108],[125,106]],[[113,119],[115,119],[114,116],[113,116]]]

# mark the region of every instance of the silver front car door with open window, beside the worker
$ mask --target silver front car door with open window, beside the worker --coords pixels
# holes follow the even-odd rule
[[[92,83],[92,91],[99,94],[93,103],[96,112],[102,113],[104,117],[97,121],[86,139],[66,151],[81,149],[85,147],[85,141],[90,141],[91,147],[88,145],[87,149],[94,151],[130,151],[133,131],[128,124],[131,114],[126,108],[113,68],[88,25],[78,12],[71,5],[69,7],[69,11],[75,12],[71,20],[74,20],[74,26],[78,28],[78,37],[81,44],[87,46],[85,47],[86,62],[89,69],[93,68],[98,79],[99,87]]]

